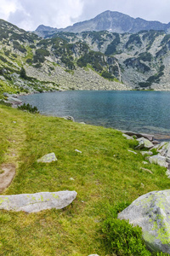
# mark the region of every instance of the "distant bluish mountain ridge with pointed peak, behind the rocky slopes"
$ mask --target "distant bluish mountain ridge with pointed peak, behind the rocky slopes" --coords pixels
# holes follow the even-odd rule
[[[51,28],[48,26],[38,26],[36,33],[47,38],[54,32],[86,32],[86,31],[109,31],[117,33],[136,33],[142,30],[162,30],[170,32],[170,23],[164,24],[159,21],[147,21],[140,18],[134,19],[119,12],[107,10],[94,19],[77,22],[73,26],[65,28]]]

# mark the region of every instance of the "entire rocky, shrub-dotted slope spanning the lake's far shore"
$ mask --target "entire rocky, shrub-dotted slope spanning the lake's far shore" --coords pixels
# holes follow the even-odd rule
[[[57,32],[0,20],[0,90],[170,90],[170,35]],[[0,92],[1,93],[1,92]]]

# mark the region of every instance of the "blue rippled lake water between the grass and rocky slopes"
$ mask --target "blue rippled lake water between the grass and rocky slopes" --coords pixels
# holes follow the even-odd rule
[[[77,122],[170,139],[170,92],[167,91],[67,90],[20,96],[20,100],[37,106],[42,114],[71,115]]]

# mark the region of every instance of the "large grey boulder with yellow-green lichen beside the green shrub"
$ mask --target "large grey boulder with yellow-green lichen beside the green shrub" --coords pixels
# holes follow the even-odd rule
[[[151,251],[170,253],[170,189],[140,196],[118,218],[139,225]]]

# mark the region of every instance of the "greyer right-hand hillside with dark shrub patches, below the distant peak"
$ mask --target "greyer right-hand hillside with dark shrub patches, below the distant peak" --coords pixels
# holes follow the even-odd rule
[[[52,38],[62,38],[70,46],[74,44],[74,59],[77,58],[77,44],[86,45],[77,60],[79,67],[90,64],[98,73],[105,71],[105,78],[115,77],[133,89],[170,89],[170,36],[165,32],[57,32],[46,40],[50,42]]]

